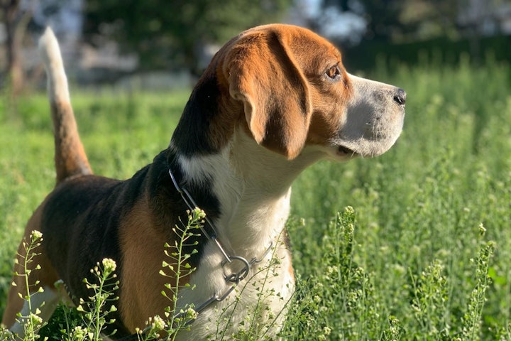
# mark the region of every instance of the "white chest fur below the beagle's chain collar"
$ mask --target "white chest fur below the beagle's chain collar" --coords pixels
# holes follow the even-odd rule
[[[272,260],[273,257],[273,260]],[[207,245],[199,269],[192,275],[192,288],[180,291],[180,305],[195,307],[214,294],[222,296],[232,283],[224,280],[221,254],[212,243]],[[290,254],[282,246],[255,264],[248,277],[224,301],[208,305],[197,316],[189,331],[182,331],[177,340],[231,340],[240,330],[258,335],[275,336],[285,316],[284,310],[292,297],[295,281],[288,271]]]

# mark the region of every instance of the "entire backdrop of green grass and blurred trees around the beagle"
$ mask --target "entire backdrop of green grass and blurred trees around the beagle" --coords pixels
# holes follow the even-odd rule
[[[278,21],[312,28],[348,71],[408,93],[388,153],[317,163],[293,186],[285,340],[511,340],[510,1],[0,5],[0,314],[24,224],[54,184],[43,26],[62,43],[94,171],[129,178],[167,146],[214,51]]]

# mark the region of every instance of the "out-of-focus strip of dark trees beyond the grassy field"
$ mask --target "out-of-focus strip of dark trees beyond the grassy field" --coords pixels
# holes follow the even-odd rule
[[[119,87],[191,86],[240,31],[294,23],[326,36],[351,72],[378,63],[456,65],[511,58],[509,0],[1,0],[0,87],[41,87],[35,45],[52,26],[70,79]]]

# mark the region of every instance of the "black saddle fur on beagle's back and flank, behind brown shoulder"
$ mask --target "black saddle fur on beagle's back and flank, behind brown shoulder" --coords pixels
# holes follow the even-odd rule
[[[133,200],[121,198],[133,197],[133,190],[129,182],[87,175],[65,181],[48,198],[43,246],[75,303],[79,298],[88,301],[91,292],[83,279],[97,281],[90,270],[102,259],[114,259],[116,274],[121,274],[119,219],[133,205]],[[116,328],[126,331],[122,325]]]

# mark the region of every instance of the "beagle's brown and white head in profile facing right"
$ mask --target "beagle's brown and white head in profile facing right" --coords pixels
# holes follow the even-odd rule
[[[188,119],[200,124],[209,112],[203,144],[219,150],[242,124],[260,146],[288,159],[304,148],[341,160],[378,156],[397,140],[405,115],[403,90],[348,74],[334,45],[290,25],[258,26],[233,38],[194,92],[202,117]]]

